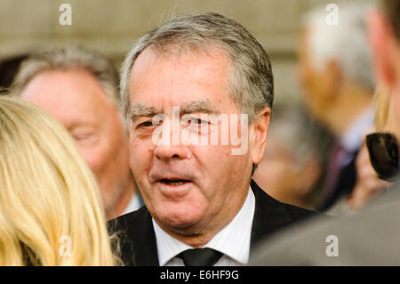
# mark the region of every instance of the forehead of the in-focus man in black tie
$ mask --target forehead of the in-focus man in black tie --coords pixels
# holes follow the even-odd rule
[[[226,53],[172,53],[148,48],[135,61],[130,77],[130,109],[138,103],[168,112],[173,106],[207,101],[215,109],[233,103],[231,65]]]

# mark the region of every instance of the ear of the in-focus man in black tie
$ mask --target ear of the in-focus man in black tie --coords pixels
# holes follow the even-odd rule
[[[269,107],[265,107],[264,109],[260,110],[252,122],[251,158],[253,164],[259,164],[264,157],[270,118],[271,109]]]

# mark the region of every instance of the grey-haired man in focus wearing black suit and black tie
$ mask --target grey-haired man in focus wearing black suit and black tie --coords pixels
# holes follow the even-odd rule
[[[260,238],[312,214],[251,181],[266,146],[273,76],[267,53],[236,21],[206,13],[149,31],[124,61],[121,92],[147,207],[116,220],[125,264],[246,264]],[[232,134],[248,143],[244,152]]]

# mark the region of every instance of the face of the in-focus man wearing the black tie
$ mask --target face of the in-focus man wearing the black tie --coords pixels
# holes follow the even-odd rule
[[[148,210],[166,231],[196,235],[217,230],[243,205],[251,147],[236,156],[230,140],[228,145],[187,146],[156,145],[152,140],[157,127],[151,125],[152,116],[164,113],[172,121],[172,107],[194,118],[204,112],[238,114],[228,92],[229,72],[221,52],[157,56],[148,48],[133,65],[131,168]],[[206,106],[199,101],[207,101]],[[172,127],[168,129],[172,132]]]

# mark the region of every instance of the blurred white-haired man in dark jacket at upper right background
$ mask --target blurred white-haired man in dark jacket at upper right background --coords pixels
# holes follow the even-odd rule
[[[337,136],[328,156],[322,209],[356,183],[355,158],[368,127],[374,79],[364,4],[340,5],[339,24],[324,9],[309,12],[300,37],[300,84],[311,114]]]

